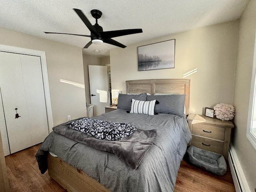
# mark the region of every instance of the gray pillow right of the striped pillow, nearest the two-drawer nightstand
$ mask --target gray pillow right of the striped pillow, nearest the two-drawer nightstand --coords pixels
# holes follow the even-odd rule
[[[148,95],[147,101],[157,100],[159,104],[155,106],[155,113],[184,115],[185,95]]]

